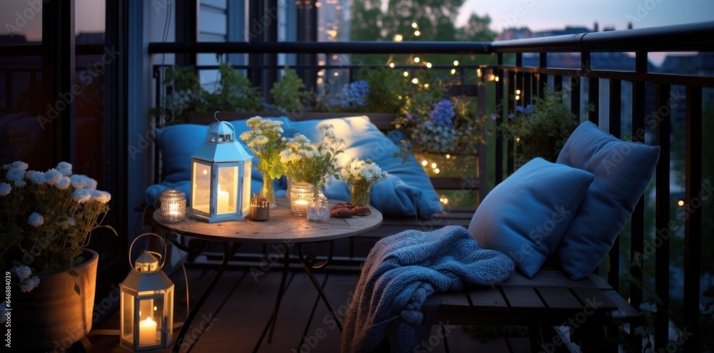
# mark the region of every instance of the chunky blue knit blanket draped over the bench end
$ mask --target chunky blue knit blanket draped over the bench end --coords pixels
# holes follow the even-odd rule
[[[427,297],[465,285],[496,285],[513,275],[513,267],[511,258],[481,248],[464,227],[385,237],[362,267],[345,317],[341,352],[374,352],[384,337],[391,352],[414,352]]]

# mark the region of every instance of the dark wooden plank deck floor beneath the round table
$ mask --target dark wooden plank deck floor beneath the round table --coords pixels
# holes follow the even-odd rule
[[[255,268],[255,267],[254,267]],[[181,352],[339,352],[340,331],[328,314],[308,276],[301,269],[291,270],[285,297],[278,315],[272,342],[268,342],[271,311],[281,279],[281,266],[276,265],[264,275],[255,275],[249,267],[227,270],[201,308],[186,335]],[[214,270],[188,270],[191,305],[213,277]],[[343,314],[358,281],[358,271],[316,272],[331,304]],[[176,283],[175,321],[186,315],[186,290],[183,273],[171,276]],[[93,352],[127,352],[119,347],[116,334],[119,314],[114,315],[90,333]],[[178,334],[176,327],[174,337]],[[498,337],[488,343],[479,342],[463,327],[448,327],[446,339],[437,334],[428,347],[415,352],[528,352],[527,338]],[[171,352],[167,349],[166,352]]]

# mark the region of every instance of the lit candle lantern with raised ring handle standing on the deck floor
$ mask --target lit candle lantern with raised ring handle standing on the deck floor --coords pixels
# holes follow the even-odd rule
[[[134,242],[144,235],[155,234],[140,235],[134,239]],[[159,238],[164,241],[163,238]],[[129,255],[134,242],[129,247]],[[164,243],[164,250],[166,250],[166,243]],[[134,352],[149,352],[166,349],[173,341],[174,283],[161,270],[164,262],[166,262],[166,251],[164,256],[161,256],[158,252],[144,250],[136,259],[135,265],[131,265],[131,272],[124,282],[119,285],[121,347]]]

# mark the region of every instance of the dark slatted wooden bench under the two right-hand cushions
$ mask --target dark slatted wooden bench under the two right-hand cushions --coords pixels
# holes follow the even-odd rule
[[[613,319],[619,310],[624,317]],[[468,287],[428,298],[423,312],[432,324],[514,325],[528,327],[532,352],[568,351],[570,343],[553,327],[568,327],[583,352],[618,352],[603,327],[617,335],[617,324],[642,323],[637,310],[602,277],[573,281],[560,270],[541,270],[528,279],[516,272],[496,287]]]

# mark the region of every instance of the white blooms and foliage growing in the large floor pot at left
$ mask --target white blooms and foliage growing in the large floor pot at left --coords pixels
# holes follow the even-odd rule
[[[0,168],[0,262],[16,275],[23,292],[39,284],[43,274],[69,272],[84,259],[82,248],[109,211],[111,195],[97,190],[96,180],[72,174],[59,163],[46,172],[28,170],[24,162]]]

